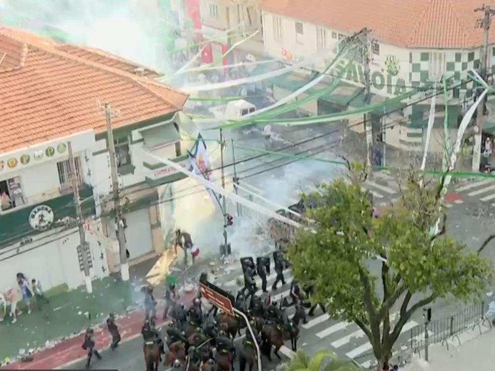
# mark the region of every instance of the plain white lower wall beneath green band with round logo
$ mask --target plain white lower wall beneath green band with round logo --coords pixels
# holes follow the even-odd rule
[[[25,273],[30,279],[40,280],[44,290],[62,284],[74,289],[84,284],[84,272],[80,271],[77,258],[77,229],[61,231],[55,236],[53,233],[54,231],[46,232],[46,237],[24,246],[0,250],[0,291],[14,287],[18,272]],[[87,233],[87,240],[93,256],[93,279],[107,276],[109,269],[106,242],[90,233]],[[99,240],[102,241],[101,246],[98,244]]]

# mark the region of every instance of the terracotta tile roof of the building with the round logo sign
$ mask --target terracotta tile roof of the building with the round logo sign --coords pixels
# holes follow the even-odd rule
[[[120,110],[122,127],[181,110],[188,95],[57,48],[50,39],[0,28],[0,153],[88,129],[105,131],[97,101]],[[103,64],[109,61],[109,65]]]

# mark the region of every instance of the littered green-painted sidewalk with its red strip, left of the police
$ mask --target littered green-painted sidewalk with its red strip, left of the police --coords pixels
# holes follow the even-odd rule
[[[167,250],[161,257],[162,262],[164,257],[169,258],[168,265],[175,258],[175,254],[170,252]],[[88,294],[85,288],[64,292],[49,298],[50,303],[41,310],[33,306],[32,313],[23,313],[15,324],[6,318],[0,322],[0,364],[15,361],[20,352],[34,353],[35,361],[10,364],[8,368],[45,368],[40,362],[51,363],[47,368],[54,368],[77,358],[82,352],[79,336],[81,331],[90,325],[98,326],[103,323],[110,312],[124,316],[119,319],[123,338],[139,333],[144,314],[130,311],[141,307],[142,294],[139,289],[153,263],[146,261],[132,267],[129,282],[110,276],[93,281],[92,294]],[[166,273],[168,269],[164,270],[164,274]],[[5,339],[9,341],[4,341]],[[98,339],[101,345],[106,345],[108,334],[99,334]],[[55,360],[56,364],[53,365]]]

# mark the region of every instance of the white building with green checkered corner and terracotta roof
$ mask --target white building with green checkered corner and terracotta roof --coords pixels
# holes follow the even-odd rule
[[[482,3],[482,2],[481,2]],[[362,28],[372,30],[371,83],[372,103],[396,97],[418,86],[433,84],[442,76],[450,79],[449,127],[457,128],[458,117],[472,102],[473,85],[467,82],[467,71],[478,68],[483,30],[475,28],[482,13],[474,9],[482,4],[477,0],[263,0],[261,3],[264,45],[267,54],[288,60],[313,55],[328,49],[323,58],[315,59],[309,69],[320,70],[335,58],[339,44]],[[495,31],[489,36],[489,70],[495,68]],[[342,45],[341,45],[342,46]],[[362,54],[357,53],[361,59]],[[346,60],[340,65],[346,64]],[[364,75],[362,65],[354,63],[345,79],[329,97],[308,103],[303,109],[310,114],[342,111],[363,105]],[[329,71],[335,75],[338,69]],[[308,71],[306,71],[308,73]],[[282,76],[274,82],[276,98],[305,84],[307,75]],[[416,95],[414,100],[421,98]],[[410,101],[404,100],[404,106]],[[443,104],[440,96],[437,103]],[[420,149],[428,122],[430,102],[404,107],[385,116],[386,142],[396,147]],[[435,128],[443,133],[444,108],[437,105]],[[380,130],[376,113],[374,132]],[[359,118],[356,120],[361,121]],[[362,125],[350,125],[362,130]],[[490,128],[485,128],[487,131]],[[434,134],[435,135],[435,134]],[[437,139],[438,139],[437,138]],[[441,150],[441,140],[432,139],[430,149]]]

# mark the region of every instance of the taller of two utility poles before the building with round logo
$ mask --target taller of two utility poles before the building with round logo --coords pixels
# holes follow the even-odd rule
[[[105,118],[107,120],[107,148],[110,156],[110,169],[112,175],[112,200],[115,209],[115,222],[117,224],[117,239],[119,241],[120,252],[120,276],[122,281],[129,281],[129,264],[127,263],[124,222],[122,220],[122,205],[120,204],[119,175],[117,172],[117,161],[115,160],[115,142],[112,128],[112,115],[118,114],[118,111],[112,112],[110,103],[105,103]]]

